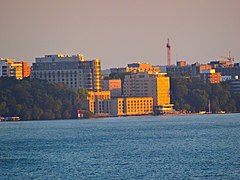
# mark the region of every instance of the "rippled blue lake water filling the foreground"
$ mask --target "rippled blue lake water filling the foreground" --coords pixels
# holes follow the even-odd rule
[[[0,179],[240,179],[240,114],[1,122]]]

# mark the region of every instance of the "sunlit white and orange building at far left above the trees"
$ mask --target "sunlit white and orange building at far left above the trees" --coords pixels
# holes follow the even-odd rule
[[[22,79],[30,75],[30,67],[27,62],[14,62],[13,59],[0,59],[0,76]]]

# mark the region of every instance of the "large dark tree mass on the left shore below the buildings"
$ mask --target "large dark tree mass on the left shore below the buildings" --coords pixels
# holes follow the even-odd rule
[[[22,120],[76,118],[87,91],[73,91],[64,84],[13,77],[0,78],[0,116],[19,116]]]

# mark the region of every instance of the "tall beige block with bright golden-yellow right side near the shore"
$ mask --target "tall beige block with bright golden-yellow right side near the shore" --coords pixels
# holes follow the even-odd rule
[[[170,79],[166,73],[132,73],[125,76],[123,95],[152,97],[154,109],[170,105]]]

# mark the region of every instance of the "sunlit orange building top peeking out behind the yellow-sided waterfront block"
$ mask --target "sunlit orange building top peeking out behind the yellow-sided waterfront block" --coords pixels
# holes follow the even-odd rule
[[[160,72],[159,67],[153,67],[148,63],[131,63],[127,67],[122,68],[111,68],[111,73],[125,73],[125,72]]]

